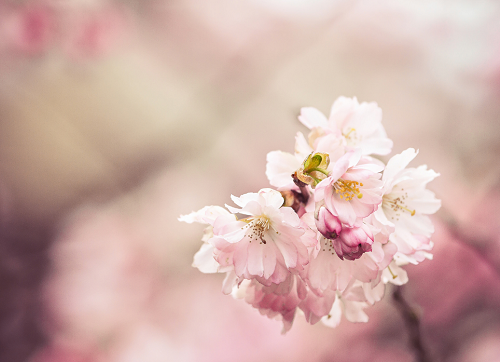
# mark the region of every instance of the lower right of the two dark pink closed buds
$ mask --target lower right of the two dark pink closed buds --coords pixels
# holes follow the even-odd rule
[[[340,259],[356,260],[367,251],[372,251],[373,234],[366,225],[344,227],[333,241],[333,248]]]

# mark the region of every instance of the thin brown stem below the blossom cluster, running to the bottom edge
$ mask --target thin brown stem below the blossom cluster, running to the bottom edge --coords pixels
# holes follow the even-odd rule
[[[392,298],[401,316],[404,319],[406,328],[410,335],[410,344],[415,351],[418,362],[431,362],[429,353],[424,346],[422,336],[420,334],[420,319],[418,313],[403,297],[401,286],[397,286],[392,294]]]

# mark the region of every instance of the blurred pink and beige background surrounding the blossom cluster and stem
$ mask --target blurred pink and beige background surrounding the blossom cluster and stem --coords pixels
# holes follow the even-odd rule
[[[435,361],[500,361],[500,3],[0,2],[0,360],[412,361],[390,297],[367,324],[281,325],[191,267],[177,221],[268,186],[300,107],[375,101],[429,186],[407,267]]]

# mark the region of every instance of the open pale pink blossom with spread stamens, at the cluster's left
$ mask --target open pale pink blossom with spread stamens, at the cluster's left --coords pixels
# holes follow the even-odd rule
[[[315,239],[275,190],[262,189],[232,197],[241,209],[226,207],[234,214],[247,215],[240,220],[219,217],[214,237],[209,240],[221,266],[234,266],[237,277],[256,278],[265,285],[283,282],[290,270],[302,270],[309,262],[308,249]]]

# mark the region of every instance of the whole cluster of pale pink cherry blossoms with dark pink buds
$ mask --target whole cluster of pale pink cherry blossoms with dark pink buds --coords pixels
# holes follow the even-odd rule
[[[297,133],[295,152],[267,155],[274,189],[179,218],[207,225],[193,266],[225,273],[223,293],[281,320],[284,332],[299,311],[311,324],[366,322],[387,283],[408,281],[401,266],[432,258],[427,215],[441,203],[426,185],[438,174],[408,167],[412,148],[387,164],[373,157],[392,149],[376,103],[340,97],[328,118],[306,107],[299,121],[310,131]]]

